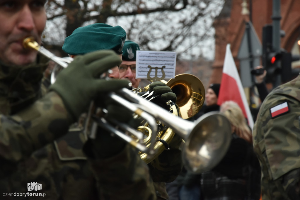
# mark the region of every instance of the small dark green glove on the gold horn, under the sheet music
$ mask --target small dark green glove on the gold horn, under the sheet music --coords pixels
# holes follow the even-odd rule
[[[176,103],[176,94],[172,92],[172,89],[167,86],[165,83],[156,81],[149,85],[149,92],[155,92],[156,94],[160,94],[161,98],[165,101],[171,100]]]

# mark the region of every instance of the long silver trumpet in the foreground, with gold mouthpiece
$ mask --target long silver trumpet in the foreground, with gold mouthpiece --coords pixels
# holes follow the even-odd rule
[[[37,43],[36,43],[37,44]],[[38,50],[44,56],[58,63],[62,67],[67,67],[70,59],[61,59],[54,56],[45,48],[39,47],[30,38],[24,40],[24,47]],[[65,62],[65,63],[62,63]],[[182,150],[182,159],[185,167],[194,172],[201,173],[213,168],[225,155],[231,138],[231,125],[229,120],[221,114],[209,113],[200,117],[196,122],[184,120],[178,116],[170,114],[168,111],[158,105],[134,95],[128,89],[120,89],[117,92],[110,92],[107,98],[123,105],[134,114],[144,118],[150,123],[153,132],[157,132],[156,121],[159,120],[171,127],[186,142]],[[175,107],[175,105],[173,105]],[[107,123],[105,118],[95,119],[95,123],[104,129],[118,135],[140,151],[148,153],[149,156],[155,154],[153,148],[156,135],[152,135],[149,148],[135,141],[130,135],[116,129],[114,125]],[[139,136],[137,130],[129,127],[127,124],[115,122],[116,126],[122,127],[126,132]]]

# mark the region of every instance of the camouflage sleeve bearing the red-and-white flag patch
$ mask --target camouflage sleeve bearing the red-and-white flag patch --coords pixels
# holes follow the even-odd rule
[[[275,180],[292,169],[300,168],[300,104],[296,99],[283,95],[273,95],[266,100],[260,113],[261,127],[257,128],[262,129],[265,159]],[[272,118],[270,109],[285,102],[289,111]]]

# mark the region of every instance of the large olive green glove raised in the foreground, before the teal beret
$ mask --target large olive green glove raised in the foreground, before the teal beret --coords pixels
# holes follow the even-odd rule
[[[60,95],[65,107],[76,120],[102,92],[110,92],[128,85],[127,80],[104,80],[100,75],[121,63],[113,50],[100,50],[76,56],[67,68],[62,70],[50,90]]]

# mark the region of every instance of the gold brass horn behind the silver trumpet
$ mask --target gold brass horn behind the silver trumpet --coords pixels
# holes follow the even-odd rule
[[[170,79],[168,82],[165,80],[160,80],[169,86],[172,91],[177,96],[176,104],[179,108],[179,113],[176,110],[176,107],[172,109],[172,114],[180,116],[183,119],[188,119],[193,117],[201,109],[204,99],[205,99],[205,89],[202,82],[192,74],[179,74],[174,78]],[[135,92],[146,92],[149,90],[149,85],[144,88],[133,89]],[[146,162],[149,163],[162,153],[165,149],[168,150],[171,140],[175,135],[175,131],[170,127],[165,128],[166,130],[161,130],[157,133],[157,139],[155,141],[154,149],[156,151],[155,156],[148,156],[147,153],[139,152],[140,157]],[[139,131],[143,132],[148,137],[144,139],[145,143],[149,145],[150,135],[155,134],[147,124],[138,127]]]

